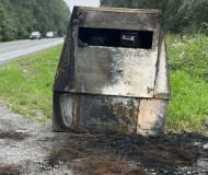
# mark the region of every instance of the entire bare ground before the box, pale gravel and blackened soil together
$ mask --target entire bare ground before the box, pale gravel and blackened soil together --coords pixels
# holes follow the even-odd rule
[[[208,137],[62,133],[12,114],[0,101],[0,175],[208,174]]]

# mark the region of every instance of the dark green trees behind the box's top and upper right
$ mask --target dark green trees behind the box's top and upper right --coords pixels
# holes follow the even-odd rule
[[[208,0],[101,0],[101,5],[161,9],[167,31],[208,34]]]

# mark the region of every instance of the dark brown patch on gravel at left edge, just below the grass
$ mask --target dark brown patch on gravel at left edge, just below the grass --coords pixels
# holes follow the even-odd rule
[[[13,132],[13,131],[8,131],[8,132],[0,132],[0,139],[10,139],[10,140],[24,140],[28,135],[23,133],[23,132]]]

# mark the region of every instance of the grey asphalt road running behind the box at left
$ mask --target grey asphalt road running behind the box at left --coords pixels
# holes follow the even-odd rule
[[[14,60],[19,57],[30,55],[58,44],[63,43],[62,38],[16,40],[0,43],[0,66]]]

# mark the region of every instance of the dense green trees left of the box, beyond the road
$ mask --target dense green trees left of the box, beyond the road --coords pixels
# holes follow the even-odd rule
[[[0,42],[28,38],[32,31],[62,35],[69,16],[63,0],[0,0]]]

